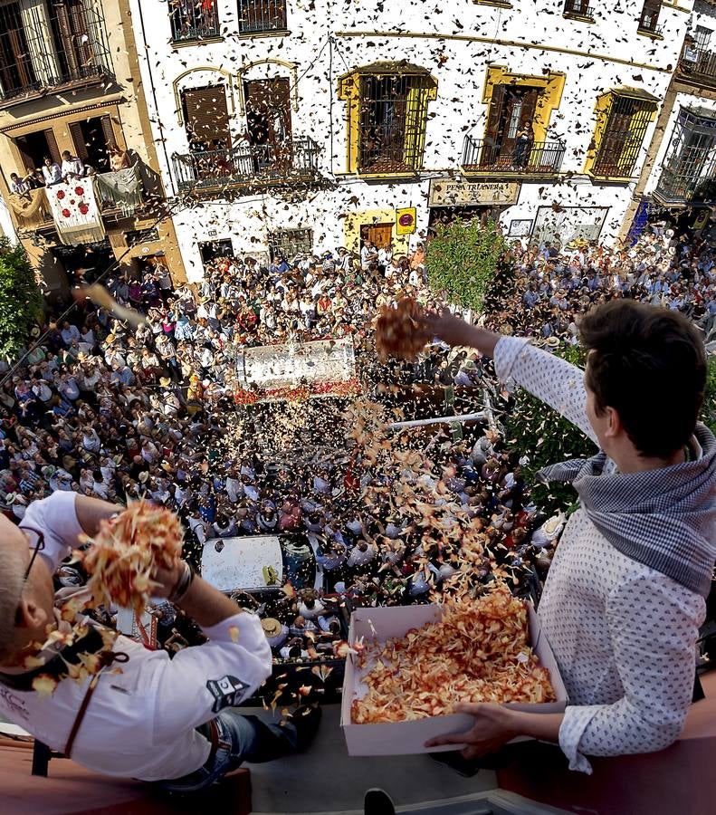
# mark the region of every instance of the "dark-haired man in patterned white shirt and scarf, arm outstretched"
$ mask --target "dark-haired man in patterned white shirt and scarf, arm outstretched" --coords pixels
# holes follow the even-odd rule
[[[452,317],[425,337],[476,348],[601,448],[550,465],[580,508],[562,533],[539,604],[567,687],[563,714],[457,705],[475,759],[517,735],[556,742],[572,770],[588,755],[650,753],[673,743],[692,701],[696,640],[716,561],[716,439],[698,423],[706,382],[702,340],[683,315],[632,300],[605,303],[579,325],[587,370]]]

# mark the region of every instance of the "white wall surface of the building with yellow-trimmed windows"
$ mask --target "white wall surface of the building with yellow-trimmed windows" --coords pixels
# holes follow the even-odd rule
[[[224,40],[173,47],[169,42],[167,4],[163,0],[141,0],[148,41],[145,51],[139,0],[130,0],[148,104],[154,107],[155,95],[157,99],[157,110],[149,111],[154,136],[165,139],[169,156],[188,152],[186,129],[177,110],[177,79],[177,91],[224,82],[232,129],[239,132],[245,128],[243,80],[287,76],[297,94],[298,110],[291,110],[293,134],[310,136],[318,142],[321,173],[338,181],[334,190],[310,192],[310,201],[300,203],[287,204],[285,196],[253,197],[233,204],[205,203],[181,212],[175,223],[190,278],[200,274],[196,244],[204,239],[230,235],[236,251],[253,247],[258,252],[266,247],[267,232],[277,226],[311,226],[316,244],[332,248],[344,242],[345,218],[341,216],[356,210],[397,206],[416,206],[418,227],[425,227],[429,178],[447,171],[459,172],[464,136],[482,138],[487,108],[482,103],[482,92],[488,63],[522,74],[566,74],[558,110],[553,111],[549,123],[548,139],[567,142],[562,172],[568,177],[562,177],[559,184],[522,184],[518,204],[503,214],[503,224],[509,225],[513,218],[534,217],[538,206],[552,203],[608,206],[603,238],[613,240],[655,122],[647,130],[631,184],[592,184],[581,174],[594,131],[597,96],[626,86],[663,99],[689,22],[684,10],[688,12],[692,7],[692,0],[684,0],[678,8],[663,5],[663,40],[654,41],[636,33],[643,0],[595,2],[595,24],[563,18],[564,3],[558,0],[515,0],[512,9],[477,5],[472,0],[444,0],[439,4],[441,14],[435,14],[432,6],[420,0],[403,4],[364,0],[360,5],[336,0],[287,2],[288,36],[239,36],[235,0],[218,0]],[[356,32],[366,34],[346,35]],[[390,33],[415,35],[388,36]],[[334,43],[328,42],[329,35],[335,37]],[[479,38],[500,42],[482,42]],[[544,48],[523,47],[532,43]],[[263,62],[266,60],[279,62]],[[425,67],[437,82],[437,99],[428,107],[424,172],[414,183],[368,185],[346,173],[346,108],[345,102],[338,99],[338,77],[360,65],[400,60]],[[182,77],[192,68],[201,70]],[[167,190],[176,192],[162,151],[159,157]],[[217,235],[207,235],[209,231]],[[325,240],[320,240],[322,235]]]

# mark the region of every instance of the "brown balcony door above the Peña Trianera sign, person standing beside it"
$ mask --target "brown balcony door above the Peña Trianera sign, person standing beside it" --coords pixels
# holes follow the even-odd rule
[[[539,88],[495,85],[481,164],[510,166],[513,163],[517,134],[534,121],[539,93]]]

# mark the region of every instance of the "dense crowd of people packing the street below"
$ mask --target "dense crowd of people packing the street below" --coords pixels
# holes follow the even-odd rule
[[[436,302],[422,245],[405,256],[368,243],[364,250],[270,265],[218,258],[198,286],[175,288],[161,265],[130,280],[110,276],[113,297],[145,315],[137,329],[90,301],[38,326],[2,375],[5,514],[19,521],[29,503],[56,490],[147,497],[179,514],[196,565],[208,541],[221,551],[221,539],[280,535],[291,590],[265,601],[236,595],[263,617],[278,660],[332,654],[345,636],[337,598],[427,601],[432,590],[498,573],[535,590],[563,518],[533,532],[545,519],[525,491],[521,451],[508,449],[493,425],[465,427],[460,438],[444,425],[387,429],[421,398],[415,383],[474,388],[479,405],[492,375],[476,353],[437,342],[415,364],[379,363],[375,313],[404,296]],[[513,291],[484,320],[548,349],[576,342],[579,315],[610,298],[679,309],[705,333],[716,315],[712,250],[658,227],[623,252],[545,244],[514,246],[512,258]],[[235,403],[242,347],[346,336],[367,397]],[[443,412],[438,403],[434,415]],[[413,405],[413,415],[421,409]],[[445,536],[446,524],[462,534]],[[69,584],[81,580],[70,567],[62,573]],[[277,577],[267,572],[267,585]],[[182,647],[186,631],[164,613],[172,647]]]

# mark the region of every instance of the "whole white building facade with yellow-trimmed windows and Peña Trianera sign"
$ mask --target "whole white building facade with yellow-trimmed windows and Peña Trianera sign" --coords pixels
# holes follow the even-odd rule
[[[453,216],[616,240],[692,0],[130,0],[190,280]],[[145,45],[146,43],[146,45]]]

